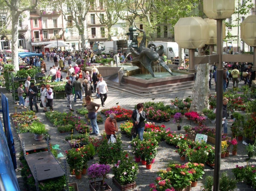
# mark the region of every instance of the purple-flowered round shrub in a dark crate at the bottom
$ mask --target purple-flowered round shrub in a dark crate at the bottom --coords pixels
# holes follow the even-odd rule
[[[108,173],[110,172],[110,167],[107,164],[98,164],[95,163],[88,168],[88,178],[94,182],[90,182],[90,188],[98,189],[101,188],[101,191],[105,190],[109,186],[104,182],[106,178],[109,178]],[[96,178],[102,178],[102,181],[96,181]],[[99,185],[100,183],[100,185]]]

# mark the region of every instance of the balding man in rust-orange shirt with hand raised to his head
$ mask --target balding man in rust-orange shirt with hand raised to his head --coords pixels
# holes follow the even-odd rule
[[[116,122],[116,115],[115,113],[111,113],[109,117],[105,121],[105,132],[107,134],[107,140],[110,139],[111,135],[115,136],[115,132],[118,132],[117,122]]]

